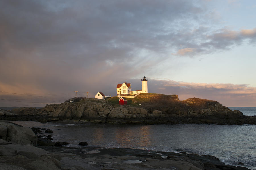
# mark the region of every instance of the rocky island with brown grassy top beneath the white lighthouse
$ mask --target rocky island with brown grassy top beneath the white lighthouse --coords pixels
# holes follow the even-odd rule
[[[245,116],[213,100],[189,98],[181,101],[177,95],[152,93],[128,98],[127,105],[119,105],[118,99],[86,98],[75,103],[47,104],[40,109],[16,108],[9,115],[5,113],[0,116],[2,120],[40,122],[72,120],[123,124],[256,124],[256,116]]]

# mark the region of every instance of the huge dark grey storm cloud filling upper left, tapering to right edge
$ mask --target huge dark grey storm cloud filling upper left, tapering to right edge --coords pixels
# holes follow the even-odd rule
[[[214,30],[211,17],[200,1],[0,1],[0,91],[97,93],[172,54],[255,41],[255,29]]]

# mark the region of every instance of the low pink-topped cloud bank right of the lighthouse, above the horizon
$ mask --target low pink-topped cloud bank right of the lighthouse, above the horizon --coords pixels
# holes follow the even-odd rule
[[[250,87],[247,84],[189,83],[172,80],[150,81],[158,82],[155,84],[150,83],[150,85],[148,85],[150,90],[153,91],[152,93],[177,94],[179,96],[179,100],[185,100],[190,97],[198,97],[209,100],[217,100],[224,106],[256,105],[256,87]],[[156,86],[158,88],[156,88]],[[161,90],[163,87],[165,89]]]

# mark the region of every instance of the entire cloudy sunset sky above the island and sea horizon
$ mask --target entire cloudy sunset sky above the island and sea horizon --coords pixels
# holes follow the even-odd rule
[[[0,107],[44,106],[117,83],[256,107],[254,0],[2,0]]]

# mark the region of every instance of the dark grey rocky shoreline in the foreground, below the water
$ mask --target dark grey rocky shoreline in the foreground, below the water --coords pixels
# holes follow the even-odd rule
[[[0,169],[247,169],[239,165],[243,163],[238,163],[238,166],[225,165],[218,158],[209,155],[131,148],[95,148],[86,146],[86,142],[83,142],[84,146],[81,144],[81,147],[64,147],[63,144],[68,144],[65,142],[61,145],[57,142],[44,145],[38,140],[40,130],[42,129],[30,129],[15,123],[0,121]],[[51,133],[49,129],[43,130]],[[51,141],[49,135],[44,138]]]

